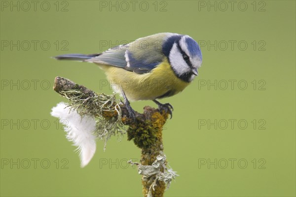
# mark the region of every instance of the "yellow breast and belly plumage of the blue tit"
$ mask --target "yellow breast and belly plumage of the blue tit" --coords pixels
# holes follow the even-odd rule
[[[112,89],[119,94],[122,89],[129,100],[170,97],[183,91],[189,84],[175,75],[167,58],[145,74],[137,74],[115,66],[98,65],[105,70]]]

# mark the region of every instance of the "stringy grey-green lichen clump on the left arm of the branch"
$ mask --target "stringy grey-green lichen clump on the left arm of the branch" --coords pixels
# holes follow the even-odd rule
[[[121,121],[122,103],[115,99],[115,95],[94,94],[93,92],[86,94],[80,88],[76,85],[74,89],[60,91],[60,94],[69,100],[68,107],[76,110],[78,114],[96,118],[95,134],[105,141],[105,150],[107,141],[112,135],[117,134],[121,139],[128,128]]]

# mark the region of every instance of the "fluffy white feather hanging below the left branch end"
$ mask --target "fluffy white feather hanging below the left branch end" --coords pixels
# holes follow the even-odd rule
[[[67,139],[77,146],[81,167],[87,165],[96,152],[96,121],[91,116],[81,116],[76,110],[66,107],[67,104],[60,102],[52,108],[51,115],[59,118],[60,122],[65,125],[64,130],[67,132]]]

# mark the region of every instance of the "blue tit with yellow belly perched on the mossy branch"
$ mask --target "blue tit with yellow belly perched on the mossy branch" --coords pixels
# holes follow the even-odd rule
[[[172,105],[156,99],[183,91],[198,75],[202,63],[197,42],[177,33],[156,33],[103,53],[55,58],[97,64],[106,72],[113,90],[124,98],[131,117],[135,113],[128,100],[153,100],[161,111],[172,116]]]

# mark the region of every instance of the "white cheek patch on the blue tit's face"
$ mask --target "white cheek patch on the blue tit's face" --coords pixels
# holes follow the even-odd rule
[[[170,51],[169,59],[171,66],[175,70],[176,74],[182,75],[186,72],[190,72],[190,68],[183,59],[183,56],[179,51],[176,43],[174,43]]]

